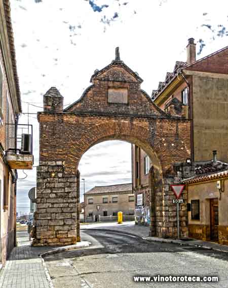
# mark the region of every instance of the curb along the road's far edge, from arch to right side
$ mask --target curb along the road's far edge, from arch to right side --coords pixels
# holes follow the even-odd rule
[[[159,243],[173,243],[173,244],[178,244],[180,246],[182,245],[185,245],[185,246],[192,246],[192,247],[199,247],[199,248],[204,248],[204,249],[208,249],[208,250],[215,250],[215,251],[220,251],[220,252],[228,252],[226,250],[223,250],[223,249],[219,249],[219,247],[215,248],[215,247],[208,247],[208,246],[205,246],[205,245],[200,245],[200,244],[196,244],[196,243],[189,243],[189,242],[185,242],[185,241],[180,241],[180,240],[175,240],[175,239],[167,239],[167,238],[156,238],[156,237],[153,237],[153,239],[151,239],[151,237],[142,237],[142,236],[139,236],[138,234],[134,234],[134,233],[129,233],[129,232],[126,232],[126,231],[117,231],[117,230],[113,230],[113,229],[82,229],[84,230],[85,232],[88,230],[92,230],[92,231],[111,231],[111,232],[116,232],[116,233],[124,233],[124,234],[128,234],[130,236],[136,236],[138,238],[141,238],[141,239],[144,239],[144,240],[147,240],[147,241],[150,241],[150,242],[159,242]]]

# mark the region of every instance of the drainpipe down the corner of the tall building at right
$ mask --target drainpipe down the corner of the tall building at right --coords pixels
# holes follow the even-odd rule
[[[185,83],[187,84],[187,102],[188,102],[188,119],[191,121],[190,123],[190,132],[191,132],[191,165],[192,170],[194,169],[194,161],[195,161],[195,155],[194,155],[194,125],[193,125],[193,97],[190,97],[190,84],[187,81],[187,79],[184,76],[184,73],[180,71],[181,76],[183,77]]]

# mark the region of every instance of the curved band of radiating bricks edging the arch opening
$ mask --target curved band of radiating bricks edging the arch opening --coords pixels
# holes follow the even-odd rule
[[[67,166],[77,169],[83,154],[95,144],[106,140],[123,140],[140,146],[160,166],[157,153],[151,147],[149,127],[143,127],[131,121],[109,120],[106,123],[94,125],[74,143],[69,149]],[[159,152],[159,151],[158,151]]]

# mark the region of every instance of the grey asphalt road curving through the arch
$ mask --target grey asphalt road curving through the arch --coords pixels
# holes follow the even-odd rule
[[[45,258],[55,288],[228,288],[228,253],[149,242],[123,232],[82,232],[92,245]],[[146,276],[218,276],[218,282],[134,282]]]

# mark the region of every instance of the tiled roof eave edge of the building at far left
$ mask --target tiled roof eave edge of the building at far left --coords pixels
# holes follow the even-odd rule
[[[14,73],[14,81],[15,81],[15,85],[16,85],[17,98],[18,98],[18,106],[19,106],[20,111],[22,111],[21,94],[20,94],[19,79],[18,79],[18,74],[17,74],[14,35],[13,35],[13,28],[12,28],[12,22],[11,22],[11,13],[10,13],[11,9],[10,9],[10,1],[9,0],[4,0],[4,9],[5,9],[5,14],[6,14],[7,34],[8,34],[8,38],[9,38],[10,53],[11,53],[11,60],[12,60],[13,73]]]

